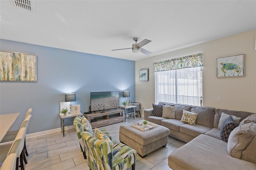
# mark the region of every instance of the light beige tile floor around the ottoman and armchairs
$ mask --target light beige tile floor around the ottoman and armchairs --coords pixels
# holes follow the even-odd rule
[[[143,118],[136,117],[136,120]],[[116,123],[101,127],[107,128],[112,140],[119,141],[120,125],[133,123],[134,118],[129,117],[127,122]],[[136,170],[170,170],[168,156],[185,142],[169,136],[168,144],[148,154],[145,158],[138,156]],[[65,137],[61,132],[26,138],[29,156],[26,170],[89,170],[86,160],[80,151],[80,145],[75,129],[65,130]],[[131,169],[131,168],[130,168]],[[130,170],[129,169],[129,170]]]

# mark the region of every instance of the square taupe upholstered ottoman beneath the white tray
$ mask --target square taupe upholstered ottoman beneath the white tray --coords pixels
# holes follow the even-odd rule
[[[168,143],[169,133],[170,130],[161,125],[143,132],[132,127],[132,124],[128,124],[120,126],[119,140],[136,150],[140,157],[144,158],[148,153],[165,147]]]

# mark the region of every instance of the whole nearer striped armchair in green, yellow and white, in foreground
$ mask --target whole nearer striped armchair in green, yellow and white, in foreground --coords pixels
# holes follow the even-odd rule
[[[81,136],[90,170],[126,170],[131,166],[135,170],[136,150],[117,141],[97,139],[86,131]]]

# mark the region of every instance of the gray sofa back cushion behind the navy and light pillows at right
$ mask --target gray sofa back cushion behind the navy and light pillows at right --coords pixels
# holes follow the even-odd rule
[[[228,115],[234,115],[236,117],[241,117],[241,120],[245,119],[246,117],[248,117],[249,115],[252,114],[250,112],[244,112],[244,111],[230,111],[230,110],[226,110],[226,109],[216,109],[215,115],[214,115],[214,127],[215,128],[218,128],[220,117],[223,112]]]

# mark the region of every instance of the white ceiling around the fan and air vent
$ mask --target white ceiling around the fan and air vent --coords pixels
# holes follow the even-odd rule
[[[129,60],[256,29],[255,0],[0,0],[0,38]],[[132,53],[138,37],[152,40]],[[4,50],[4,49],[2,49]],[[72,57],[72,56],[70,56]]]

